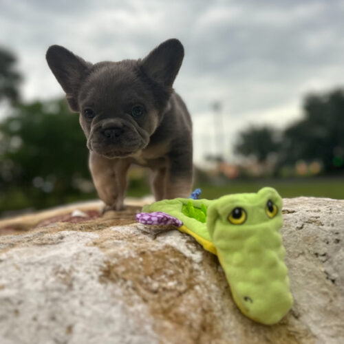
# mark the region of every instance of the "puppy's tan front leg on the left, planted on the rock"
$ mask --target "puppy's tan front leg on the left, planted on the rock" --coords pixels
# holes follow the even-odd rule
[[[89,169],[98,196],[106,204],[105,210],[124,209],[129,166],[126,159],[107,159],[95,153],[89,155]]]

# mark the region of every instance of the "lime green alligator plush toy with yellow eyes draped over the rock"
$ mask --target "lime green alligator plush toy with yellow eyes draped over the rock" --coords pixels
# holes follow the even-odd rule
[[[217,255],[233,299],[248,318],[271,325],[292,308],[286,250],[279,229],[282,200],[272,188],[218,200],[176,198],[144,206],[143,224],[173,224]]]

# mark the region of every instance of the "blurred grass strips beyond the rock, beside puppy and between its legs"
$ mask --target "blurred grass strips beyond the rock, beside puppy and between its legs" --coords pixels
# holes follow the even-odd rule
[[[228,193],[257,192],[264,186],[272,186],[282,197],[291,198],[299,196],[329,197],[344,200],[344,176],[326,178],[295,178],[286,179],[250,179],[250,180],[222,180],[222,182],[195,182],[194,189],[202,189],[202,198],[213,200]],[[127,196],[142,197],[151,194],[149,184],[146,180],[131,180]],[[0,193],[0,217],[12,213],[21,213],[23,209],[34,211],[40,208],[67,204],[69,202],[80,202],[96,199],[96,193],[85,195],[65,195],[63,200],[54,195],[44,195],[41,200],[38,196],[32,200],[23,190],[12,190],[11,193]]]

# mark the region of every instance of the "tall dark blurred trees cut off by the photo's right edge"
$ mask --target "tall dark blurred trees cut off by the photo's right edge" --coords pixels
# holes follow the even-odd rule
[[[325,172],[344,169],[344,92],[311,94],[303,103],[305,117],[286,129],[281,163],[319,160]]]

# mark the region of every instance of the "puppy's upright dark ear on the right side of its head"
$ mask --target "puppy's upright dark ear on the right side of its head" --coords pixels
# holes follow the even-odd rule
[[[164,41],[142,60],[142,69],[156,83],[172,87],[184,58],[184,47],[178,39]]]

